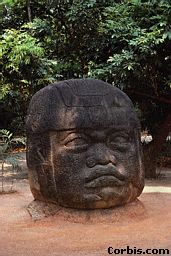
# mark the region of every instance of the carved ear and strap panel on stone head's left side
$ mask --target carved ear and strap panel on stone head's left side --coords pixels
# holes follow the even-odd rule
[[[53,163],[50,133],[28,134],[27,166],[30,189],[35,198],[57,200],[56,184],[53,179]],[[46,189],[45,189],[46,188]]]

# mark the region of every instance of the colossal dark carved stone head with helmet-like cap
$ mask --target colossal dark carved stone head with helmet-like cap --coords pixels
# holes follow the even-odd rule
[[[140,124],[116,87],[95,79],[49,85],[33,96],[26,128],[35,199],[95,209],[141,194]]]

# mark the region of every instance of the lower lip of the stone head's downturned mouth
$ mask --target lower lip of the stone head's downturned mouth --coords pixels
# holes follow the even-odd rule
[[[124,186],[125,181],[119,180],[114,175],[105,174],[85,184],[86,188]]]

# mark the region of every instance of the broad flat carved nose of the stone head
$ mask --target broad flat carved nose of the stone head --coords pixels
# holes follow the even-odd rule
[[[98,143],[93,147],[91,155],[87,158],[86,164],[89,168],[95,165],[116,164],[116,158],[113,152],[103,143]]]

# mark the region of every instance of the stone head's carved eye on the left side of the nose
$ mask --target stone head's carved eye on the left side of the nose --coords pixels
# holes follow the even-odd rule
[[[86,148],[88,147],[88,138],[82,134],[71,133],[65,138],[64,144],[68,148]]]

